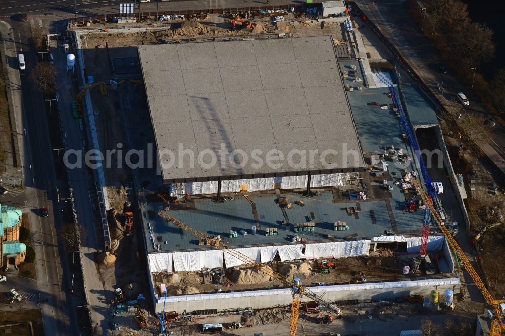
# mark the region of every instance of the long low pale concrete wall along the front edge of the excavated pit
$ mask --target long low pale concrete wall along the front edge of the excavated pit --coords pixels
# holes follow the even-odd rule
[[[392,300],[401,295],[421,294],[428,296],[430,291],[443,292],[447,289],[456,293],[460,289],[458,278],[421,279],[416,281],[396,281],[381,283],[347,284],[334,286],[310,287],[310,290],[327,301],[341,300]],[[193,294],[167,297],[166,307],[179,313],[200,309],[224,309],[252,307],[262,309],[277,305],[291,304],[293,298],[290,289],[272,289],[233,293]],[[304,301],[310,301],[304,297]],[[159,298],[155,305],[156,312],[163,310],[164,298]]]

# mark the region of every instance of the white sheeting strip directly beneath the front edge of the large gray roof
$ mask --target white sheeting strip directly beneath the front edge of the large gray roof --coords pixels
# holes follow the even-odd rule
[[[348,178],[349,173],[316,174],[311,176],[311,187],[343,186]],[[239,192],[242,185],[247,185],[248,191],[270,190],[274,189],[274,184],[280,184],[281,189],[305,188],[307,186],[307,176],[224,180],[221,181],[221,192]],[[177,190],[174,185],[171,189]],[[184,192],[190,195],[214,194],[217,191],[217,181],[188,182],[184,184]]]

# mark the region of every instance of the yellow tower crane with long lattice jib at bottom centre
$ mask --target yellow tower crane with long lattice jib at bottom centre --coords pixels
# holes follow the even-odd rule
[[[199,237],[202,240],[208,240],[210,237],[206,235],[203,232],[200,232],[198,230],[195,230],[188,225],[184,224],[183,222],[179,221],[178,219],[170,216],[167,214],[165,211],[160,210],[158,212],[158,215],[167,221],[170,221],[174,223],[177,227],[180,229],[183,229],[184,231],[189,232],[190,234]],[[257,262],[254,259],[251,259],[250,257],[246,256],[245,254],[242,254],[230,246],[227,246],[223,244],[222,242],[219,242],[218,244],[214,244],[215,247],[223,250],[224,252],[232,255],[233,257],[237,258],[238,260],[242,261],[245,266],[251,266],[256,269],[258,269],[260,272],[263,272],[267,275],[269,275],[272,279],[277,280],[281,283],[283,283],[286,286],[289,286],[292,291],[293,295],[293,304],[291,305],[291,323],[289,326],[289,336],[296,336],[296,332],[298,329],[298,315],[299,315],[299,310],[300,310],[300,302],[302,296],[305,296],[309,298],[312,301],[315,301],[321,306],[321,308],[327,309],[337,315],[340,314],[341,309],[337,307],[336,305],[332,304],[331,302],[328,302],[318,296],[316,293],[312,292],[310,289],[305,287],[304,285],[301,284],[301,281],[299,278],[294,277],[293,279],[290,279],[288,277],[285,277],[282,274],[279,274],[272,270],[272,268],[268,267],[265,264],[262,264],[261,262]]]

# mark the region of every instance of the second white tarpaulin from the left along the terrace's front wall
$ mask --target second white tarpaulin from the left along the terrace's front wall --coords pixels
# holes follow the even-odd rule
[[[221,250],[173,252],[172,254],[176,272],[197,271],[204,267],[223,267],[223,251]]]

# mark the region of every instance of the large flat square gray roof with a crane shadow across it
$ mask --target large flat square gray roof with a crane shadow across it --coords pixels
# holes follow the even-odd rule
[[[148,45],[138,52],[157,147],[174,154],[160,157],[165,183],[364,169],[330,36]],[[248,162],[239,154],[223,166],[223,146],[244,151]],[[358,155],[342,155],[344,149]],[[194,166],[182,150],[195,153]],[[218,159],[213,166],[209,150]],[[263,162],[278,150],[283,165],[252,164],[253,150]],[[304,164],[296,152],[288,164],[292,150],[306,151]],[[309,150],[317,150],[312,165]],[[338,154],[325,156],[327,150]]]

